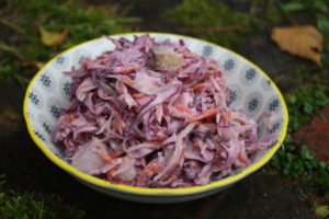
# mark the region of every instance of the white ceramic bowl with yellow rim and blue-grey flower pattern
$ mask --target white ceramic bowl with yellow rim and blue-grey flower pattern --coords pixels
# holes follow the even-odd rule
[[[133,39],[134,35],[141,34],[145,33],[128,33],[112,37]],[[26,90],[24,117],[32,139],[45,155],[95,191],[122,199],[144,203],[178,203],[205,197],[227,188],[264,165],[280,148],[288,122],[286,105],[273,81],[246,58],[215,44],[174,34],[149,34],[158,42],[168,38],[172,42],[183,39],[192,51],[218,60],[222,71],[228,77],[228,87],[232,91],[230,107],[242,110],[252,118],[258,118],[264,112],[271,112],[273,126],[268,130],[265,124],[258,124],[259,136],[262,139],[276,132],[277,139],[266,150],[257,152],[247,169],[224,180],[190,188],[140,188],[116,185],[78,171],[66,161],[61,151],[53,143],[52,131],[60,116],[59,110],[69,105],[70,78],[61,72],[70,70],[73,66],[79,67],[80,60],[95,58],[105,50],[114,49],[114,45],[109,39],[97,38],[53,58],[35,74]]]

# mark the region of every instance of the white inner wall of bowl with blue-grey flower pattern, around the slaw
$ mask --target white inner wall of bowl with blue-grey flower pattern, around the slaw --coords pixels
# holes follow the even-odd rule
[[[140,34],[116,35],[114,38],[133,39],[134,35]],[[241,110],[256,120],[264,114],[271,113],[270,127],[265,119],[258,120],[259,140],[272,134],[277,134],[276,136],[281,139],[284,137],[287,125],[285,103],[276,87],[258,67],[230,50],[204,41],[168,34],[150,35],[158,42],[168,38],[172,42],[183,39],[192,51],[218,60],[220,70],[227,76],[227,84],[231,90],[230,107]],[[78,45],[50,60],[36,74],[27,89],[25,113],[27,124],[30,123],[33,129],[32,135],[42,142],[42,147],[46,147],[65,162],[67,161],[64,154],[52,141],[52,132],[60,116],[60,108],[69,106],[71,80],[61,72],[69,71],[72,67],[79,68],[79,61],[95,58],[103,51],[112,49],[114,49],[114,45],[105,38]],[[257,152],[252,158],[252,163],[261,160],[273,149],[276,140],[268,149]]]

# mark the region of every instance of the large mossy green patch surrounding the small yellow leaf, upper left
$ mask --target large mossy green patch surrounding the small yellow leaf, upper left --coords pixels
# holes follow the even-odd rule
[[[111,4],[95,7],[77,0],[8,0],[0,14],[1,24],[12,32],[10,38],[0,41],[0,59],[7,58],[7,70],[15,69],[7,71],[5,76],[0,72],[0,81],[22,78],[18,72],[35,72],[35,62],[47,61],[57,53],[84,41],[128,32],[127,24],[135,21],[122,18],[123,14]],[[45,46],[41,42],[39,26],[50,32],[67,30],[69,34],[64,44]]]

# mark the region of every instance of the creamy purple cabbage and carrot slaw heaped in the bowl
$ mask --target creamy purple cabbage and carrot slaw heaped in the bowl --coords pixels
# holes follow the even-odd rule
[[[78,170],[117,184],[189,187],[249,165],[270,143],[258,142],[253,119],[229,108],[217,61],[183,41],[109,39],[113,51],[64,72],[71,105],[54,141]]]

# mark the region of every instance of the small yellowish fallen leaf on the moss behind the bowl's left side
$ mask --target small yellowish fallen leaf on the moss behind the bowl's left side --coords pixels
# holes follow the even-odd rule
[[[68,30],[63,32],[48,32],[43,26],[39,26],[41,41],[46,46],[58,46],[67,37]]]

